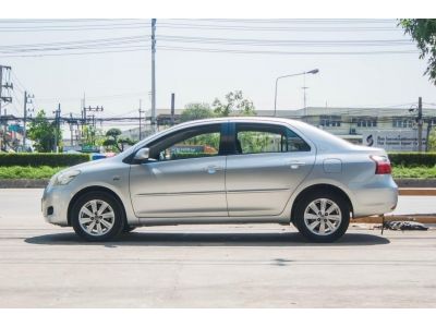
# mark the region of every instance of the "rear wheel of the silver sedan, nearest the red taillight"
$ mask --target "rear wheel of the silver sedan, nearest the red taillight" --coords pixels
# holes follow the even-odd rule
[[[326,204],[325,214],[323,215],[319,210],[316,213],[317,218],[310,218],[315,216],[315,210],[310,208],[310,205],[315,204],[315,206],[320,206],[322,202]],[[332,204],[335,204],[336,207]],[[327,211],[330,208],[332,208],[334,211],[329,218]],[[338,219],[339,216],[340,220]],[[299,201],[295,206],[292,221],[303,237],[310,241],[325,243],[335,242],[340,239],[348,229],[350,223],[350,206],[343,196],[335,192],[316,191],[305,195],[301,201]],[[310,226],[312,226],[312,229]]]

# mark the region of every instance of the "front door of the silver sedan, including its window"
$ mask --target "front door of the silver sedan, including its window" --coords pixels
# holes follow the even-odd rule
[[[147,145],[150,159],[132,165],[130,191],[135,215],[147,217],[227,216],[226,156],[214,123],[186,128]]]

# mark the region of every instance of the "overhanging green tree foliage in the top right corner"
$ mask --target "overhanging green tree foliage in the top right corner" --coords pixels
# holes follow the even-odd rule
[[[399,25],[416,41],[420,59],[427,58],[424,74],[436,85],[436,19],[400,20]]]

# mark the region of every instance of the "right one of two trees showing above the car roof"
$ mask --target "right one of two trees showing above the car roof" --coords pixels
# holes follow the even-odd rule
[[[228,93],[226,95],[226,101],[216,98],[213,102],[213,108],[215,114],[220,117],[256,114],[253,101],[244,99],[242,90]]]

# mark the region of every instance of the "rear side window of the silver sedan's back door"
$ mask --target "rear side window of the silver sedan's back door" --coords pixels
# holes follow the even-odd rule
[[[275,124],[237,123],[237,154],[310,152],[311,147],[293,131]]]

